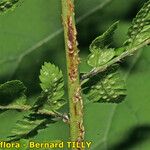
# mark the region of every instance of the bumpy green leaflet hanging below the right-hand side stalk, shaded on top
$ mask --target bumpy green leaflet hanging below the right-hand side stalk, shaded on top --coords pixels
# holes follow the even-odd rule
[[[92,102],[118,103],[126,96],[125,82],[116,69],[109,69],[84,85],[83,92]]]

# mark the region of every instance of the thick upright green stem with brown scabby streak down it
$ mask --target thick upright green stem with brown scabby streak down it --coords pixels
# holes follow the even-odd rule
[[[68,76],[68,98],[70,109],[71,141],[84,140],[83,102],[79,81],[79,56],[77,32],[74,18],[74,0],[62,0],[62,19],[66,49],[66,64]]]

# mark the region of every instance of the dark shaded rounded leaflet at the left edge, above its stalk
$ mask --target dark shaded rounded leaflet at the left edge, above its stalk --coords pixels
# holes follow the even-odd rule
[[[26,103],[26,87],[19,80],[8,81],[0,85],[0,105],[23,105]]]

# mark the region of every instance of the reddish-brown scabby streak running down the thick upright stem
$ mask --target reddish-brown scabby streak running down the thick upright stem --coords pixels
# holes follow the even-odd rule
[[[78,80],[78,65],[80,62],[80,59],[78,57],[78,42],[77,42],[77,31],[74,26],[73,22],[73,16],[74,16],[74,7],[72,5],[72,2],[70,0],[67,0],[68,2],[68,7],[70,8],[68,11],[68,16],[67,16],[67,36],[68,36],[68,41],[67,41],[67,46],[68,46],[68,58],[69,58],[69,78],[71,83],[74,83]],[[77,87],[77,90],[74,91],[74,98],[73,98],[73,103],[74,103],[74,115],[78,118],[79,116],[83,118],[83,102],[82,102],[82,97],[81,97],[81,87]],[[84,139],[84,126],[83,126],[83,121],[78,120],[78,138],[77,141],[81,142]]]

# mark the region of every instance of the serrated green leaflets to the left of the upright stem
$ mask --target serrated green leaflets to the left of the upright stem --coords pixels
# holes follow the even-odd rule
[[[49,123],[53,123],[61,117],[61,113],[58,113],[57,110],[65,104],[62,72],[55,65],[44,63],[39,78],[42,88],[41,95],[37,97],[33,106],[27,107],[27,114],[16,123],[9,140],[32,137],[38,133],[38,130],[46,128]],[[0,86],[0,89],[0,96],[4,100],[10,98],[13,101],[11,105],[6,107],[7,109],[12,109],[11,107],[16,103],[20,104],[20,110],[24,109],[21,104],[24,104],[22,103],[22,97],[25,97],[26,88],[20,81],[4,83]]]

